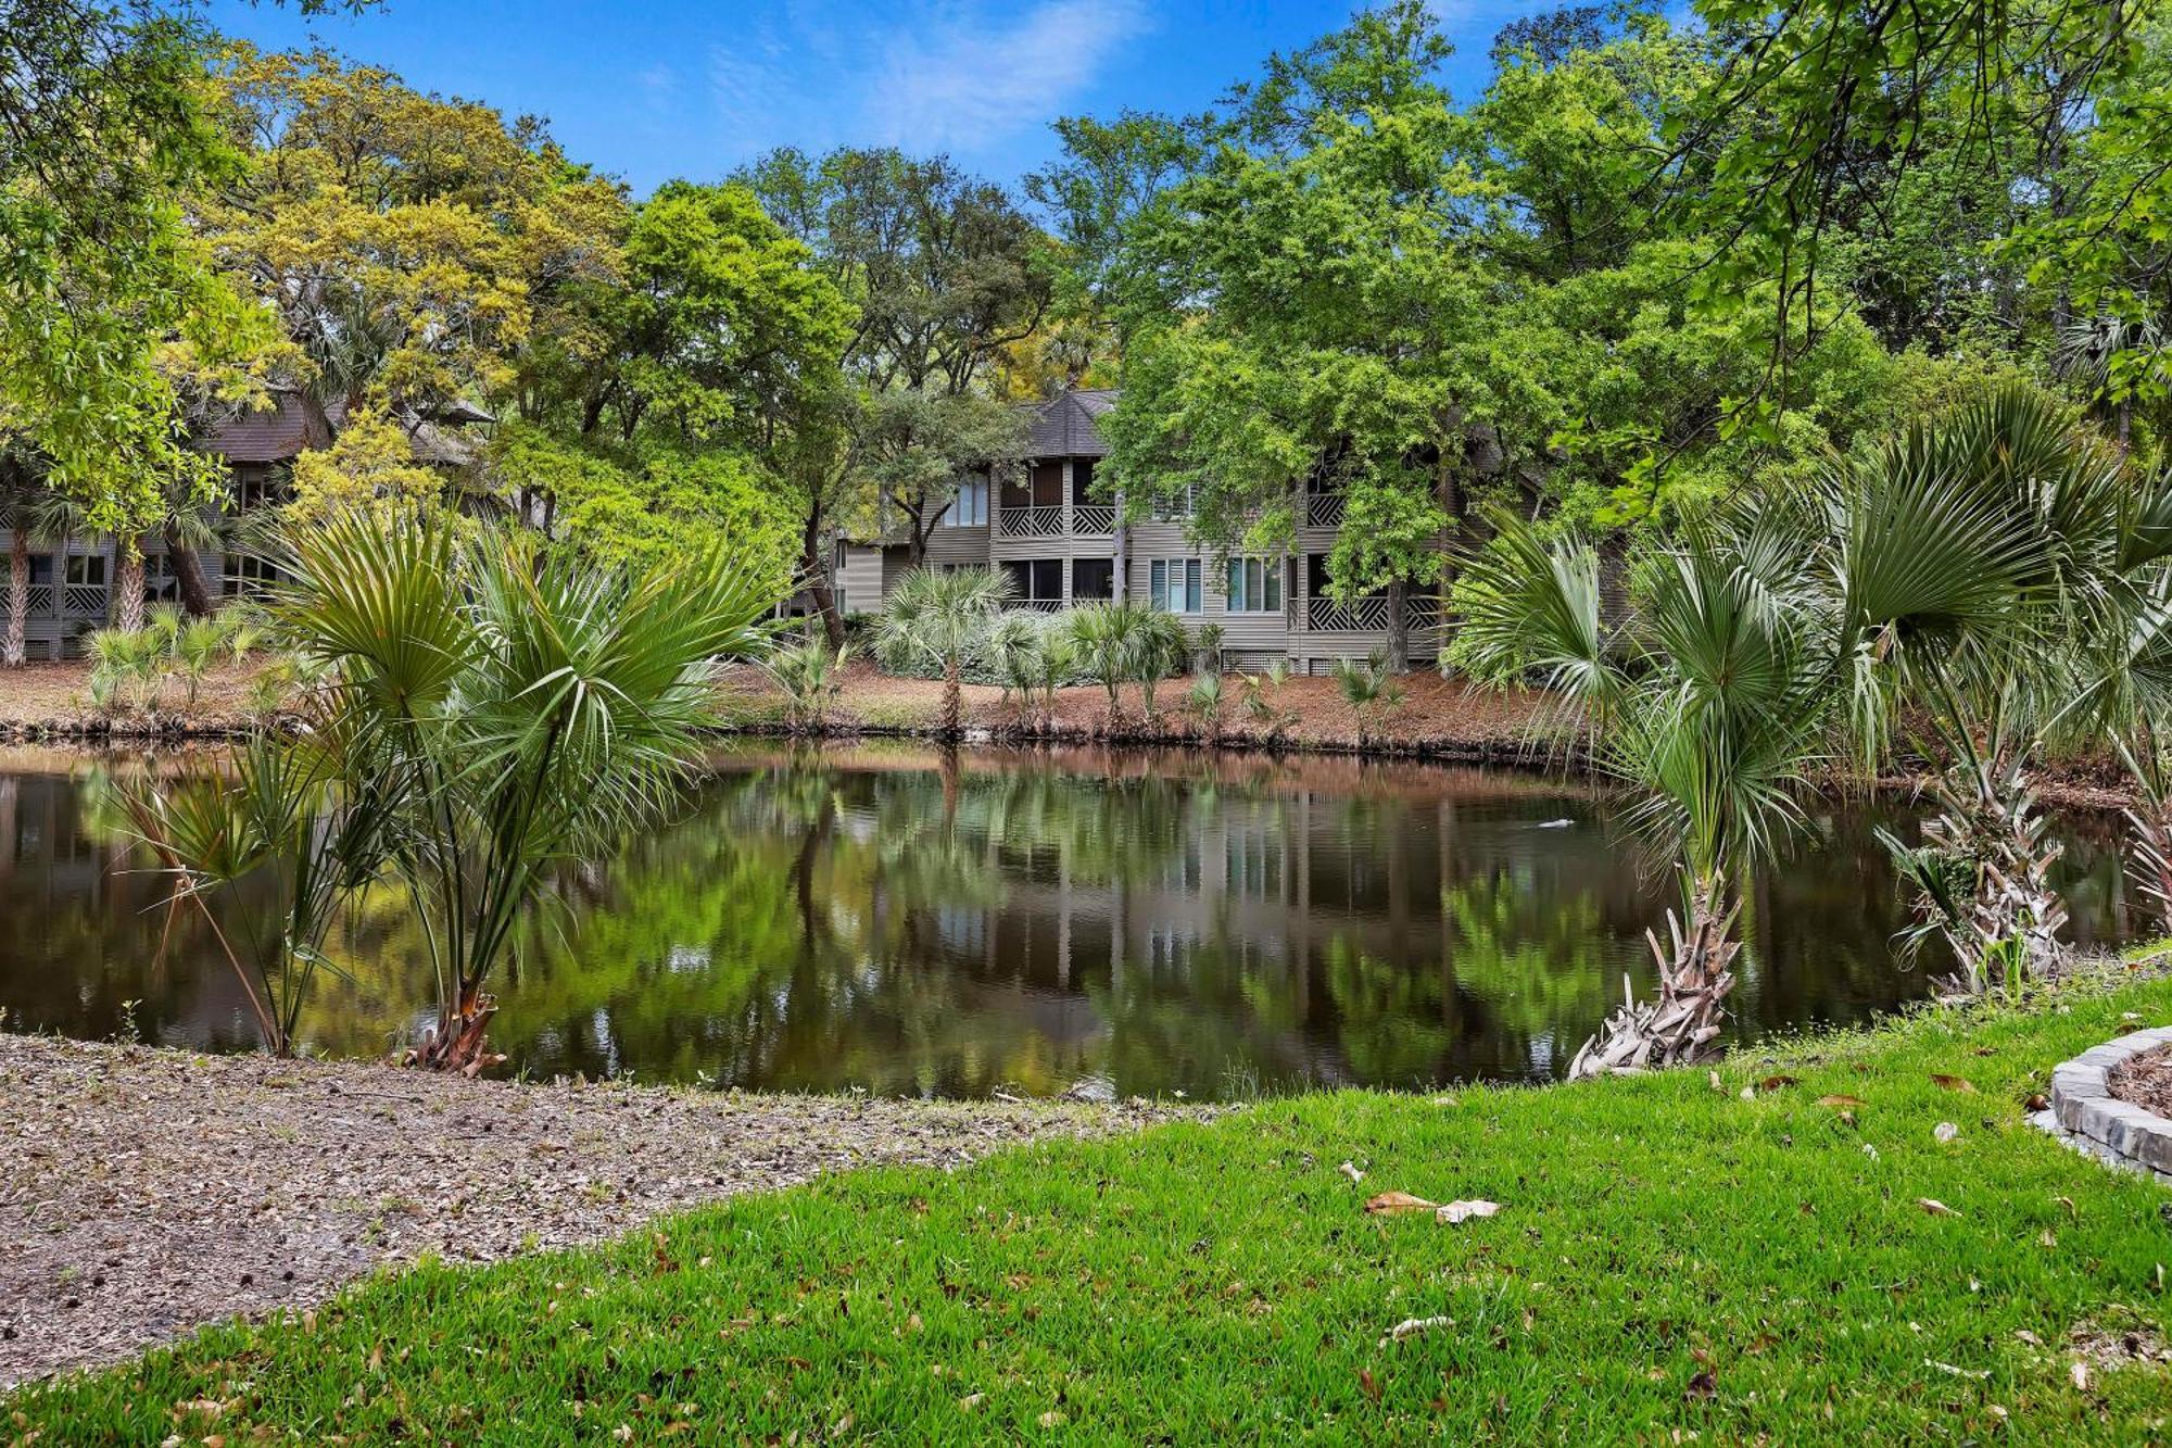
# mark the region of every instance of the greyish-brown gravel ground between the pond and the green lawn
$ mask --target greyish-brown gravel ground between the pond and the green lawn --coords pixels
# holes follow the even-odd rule
[[[473,1083],[0,1035],[0,1385],[424,1252],[489,1261],[875,1163],[1190,1115]]]

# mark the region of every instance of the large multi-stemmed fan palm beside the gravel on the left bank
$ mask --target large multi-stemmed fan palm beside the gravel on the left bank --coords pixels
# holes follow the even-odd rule
[[[276,863],[282,972],[315,959],[324,911],[304,885],[352,902],[397,878],[439,981],[411,1057],[476,1072],[491,1061],[484,987],[517,926],[560,865],[669,807],[715,717],[712,665],[762,650],[775,591],[721,550],[597,567],[437,511],[334,513],[289,533],[280,565],[269,626],[324,678],[300,704],[308,754],[245,774],[224,815],[206,807],[217,828],[182,831],[176,807],[146,802],[141,833],[191,896]],[[291,1024],[267,1031],[280,1039]]]

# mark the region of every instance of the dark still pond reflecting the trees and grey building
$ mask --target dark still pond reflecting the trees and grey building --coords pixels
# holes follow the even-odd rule
[[[11,1031],[254,1046],[209,928],[165,907],[111,778],[174,761],[0,750]],[[678,817],[567,870],[497,983],[528,1076],[769,1089],[1229,1098],[1546,1081],[1629,989],[1675,885],[1570,781],[1349,759],[919,746],[721,750]],[[1818,807],[1753,881],[1738,1037],[1927,991],[1872,826]],[[2059,822],[2072,935],[2129,935],[2118,831]],[[248,896],[222,904],[254,926]],[[2137,920],[2135,926],[2142,922]],[[1662,926],[1664,928],[1664,926]],[[397,889],[361,904],[304,1018],[389,1052],[430,972]],[[1944,970],[1942,961],[1924,965]]]

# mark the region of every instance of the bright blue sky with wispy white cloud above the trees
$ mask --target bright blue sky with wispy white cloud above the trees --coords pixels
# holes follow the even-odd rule
[[[1460,100],[1503,22],[1562,0],[1436,0]],[[1058,115],[1197,111],[1351,0],[387,0],[361,17],[211,0],[228,35],[311,35],[419,89],[547,115],[567,152],[645,194],[771,146],[895,143],[1001,180],[1047,161]]]

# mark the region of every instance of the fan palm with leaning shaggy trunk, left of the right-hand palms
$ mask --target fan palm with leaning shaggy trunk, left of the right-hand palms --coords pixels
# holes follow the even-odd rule
[[[1822,741],[1822,617],[1811,596],[1770,583],[1775,565],[1807,576],[1811,559],[1772,520],[1694,520],[1640,557],[1644,607],[1614,633],[1588,539],[1546,541],[1507,511],[1492,526],[1466,559],[1466,665],[1499,685],[1536,672],[1570,700],[1596,763],[1636,789],[1631,824],[1681,870],[1670,944],[1646,933],[1659,1000],[1625,1002],[1570,1076],[1696,1061],[1735,981],[1742,872],[1803,822],[1794,787]]]

